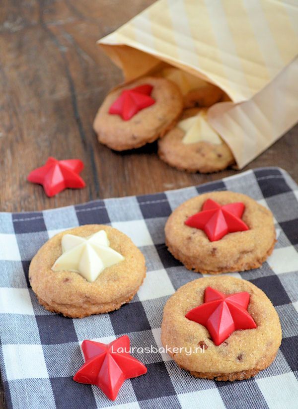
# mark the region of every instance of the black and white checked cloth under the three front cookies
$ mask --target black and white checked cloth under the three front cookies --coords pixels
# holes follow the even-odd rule
[[[248,194],[275,216],[278,243],[261,269],[232,273],[271,299],[283,341],[274,363],[237,382],[196,379],[164,353],[133,353],[148,373],[125,381],[112,402],[95,386],[75,383],[80,343],[128,334],[132,346],[160,342],[163,306],[177,288],[202,274],[186,270],[167,251],[164,224],[171,211],[200,193]],[[56,233],[108,223],[129,235],[147,260],[147,278],[118,311],[69,319],[44,310],[28,282],[37,250]],[[298,408],[298,187],[279,168],[262,168],[213,183],[156,195],[98,200],[32,213],[0,213],[0,371],[7,408]],[[257,345],[256,345],[257,347]]]

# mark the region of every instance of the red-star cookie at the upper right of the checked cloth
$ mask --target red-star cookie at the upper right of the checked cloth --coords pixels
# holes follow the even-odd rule
[[[188,270],[209,274],[260,267],[273,251],[275,236],[270,210],[228,191],[184,202],[165,225],[170,253]]]

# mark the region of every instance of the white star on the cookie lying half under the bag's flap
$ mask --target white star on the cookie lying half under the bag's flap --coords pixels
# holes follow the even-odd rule
[[[182,143],[196,143],[201,140],[219,145],[222,142],[221,137],[214,131],[207,121],[207,116],[204,110],[201,110],[198,115],[180,121],[178,128],[185,132]]]

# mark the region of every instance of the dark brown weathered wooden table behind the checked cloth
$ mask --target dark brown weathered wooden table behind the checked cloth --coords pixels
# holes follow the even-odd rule
[[[236,173],[187,174],[156,155],[156,144],[116,153],[92,121],[122,75],[95,42],[153,0],[3,1],[0,10],[0,211],[40,210],[198,185]],[[277,165],[298,179],[298,126],[244,170]],[[48,199],[26,182],[48,156],[80,158],[87,187]],[[4,408],[0,391],[0,409]]]

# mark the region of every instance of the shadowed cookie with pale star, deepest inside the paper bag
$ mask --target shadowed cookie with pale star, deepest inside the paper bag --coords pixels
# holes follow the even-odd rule
[[[168,67],[164,68],[161,74],[178,85],[185,108],[209,108],[224,96],[224,92],[218,86],[181,69]]]

